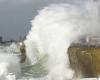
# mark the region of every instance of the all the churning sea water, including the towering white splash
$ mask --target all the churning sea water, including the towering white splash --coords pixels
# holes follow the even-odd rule
[[[31,23],[24,41],[24,63],[20,63],[19,43],[0,46],[0,80],[75,80],[68,47],[84,36],[100,35],[97,3],[91,0],[82,7],[51,4]]]

